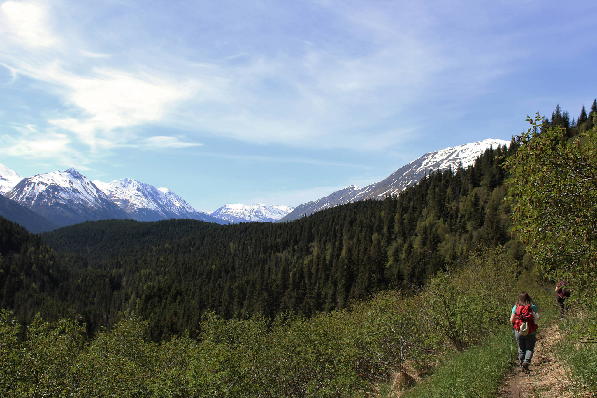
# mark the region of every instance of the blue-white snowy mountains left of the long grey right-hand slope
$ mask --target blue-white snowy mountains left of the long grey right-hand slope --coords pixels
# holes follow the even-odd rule
[[[23,178],[0,165],[0,190],[5,199],[0,202],[0,215],[31,232],[109,218],[137,221],[192,218],[218,224],[271,222],[293,210],[279,205],[228,204],[214,212],[222,216],[217,217],[196,210],[170,189],[131,178],[111,183],[92,182],[75,168]]]

